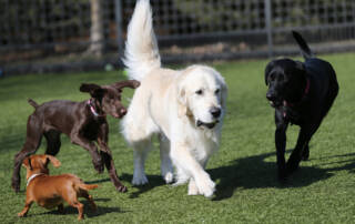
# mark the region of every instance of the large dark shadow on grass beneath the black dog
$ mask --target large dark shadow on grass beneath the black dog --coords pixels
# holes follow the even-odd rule
[[[217,182],[213,201],[229,198],[237,189],[302,187],[333,176],[334,174],[332,172],[334,171],[349,170],[349,172],[355,172],[355,157],[352,160],[338,161],[336,163],[346,164],[329,169],[306,166],[307,162],[301,162],[301,167],[290,176],[287,184],[281,184],[276,176],[276,163],[265,162],[265,159],[268,156],[276,155],[273,152],[243,157],[232,161],[230,165],[209,170],[207,172],[211,174],[211,177]],[[334,157],[348,156],[355,156],[355,153],[335,155]]]

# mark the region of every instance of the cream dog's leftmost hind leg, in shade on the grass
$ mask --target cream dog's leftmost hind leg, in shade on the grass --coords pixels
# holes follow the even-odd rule
[[[151,140],[140,141],[132,143],[133,146],[133,160],[134,160],[134,171],[133,171],[133,185],[143,185],[148,183],[148,179],[144,171],[145,159],[149,151],[152,147]]]

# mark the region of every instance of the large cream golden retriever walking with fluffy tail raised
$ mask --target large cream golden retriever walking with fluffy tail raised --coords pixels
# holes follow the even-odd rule
[[[189,181],[190,195],[212,196],[215,184],[204,169],[220,145],[227,93],[223,78],[206,65],[178,71],[161,68],[149,0],[136,2],[124,64],[130,79],[141,82],[122,121],[122,133],[134,150],[132,183],[148,183],[144,162],[158,135],[165,182],[174,181],[174,165],[175,184]],[[211,114],[213,108],[221,110],[220,116]]]

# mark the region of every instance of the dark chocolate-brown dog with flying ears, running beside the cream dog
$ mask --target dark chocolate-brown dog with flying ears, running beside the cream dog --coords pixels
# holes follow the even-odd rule
[[[91,99],[83,102],[50,101],[38,105],[33,100],[29,103],[36,111],[29,116],[27,139],[22,150],[14,156],[12,189],[20,191],[20,167],[23,159],[36,153],[44,135],[47,140],[45,154],[55,155],[61,142],[60,134],[67,134],[71,142],[88,150],[92,156],[94,169],[103,172],[103,163],[110,174],[111,182],[119,192],[125,192],[121,184],[109,149],[109,124],[106,113],[114,118],[122,118],[126,109],[121,104],[122,88],[135,89],[140,82],[135,80],[122,81],[111,85],[82,84],[81,92],[89,92]],[[100,146],[100,154],[93,141]]]

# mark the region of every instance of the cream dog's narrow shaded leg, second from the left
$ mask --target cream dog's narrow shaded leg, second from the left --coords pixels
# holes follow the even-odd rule
[[[173,166],[170,159],[170,141],[163,134],[160,135],[160,160],[161,160],[161,173],[165,182],[173,182]]]

